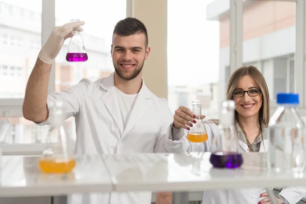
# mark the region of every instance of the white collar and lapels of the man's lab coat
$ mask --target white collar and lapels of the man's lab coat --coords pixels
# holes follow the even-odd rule
[[[118,124],[121,133],[121,138],[123,138],[127,133],[129,133],[129,131],[137,123],[137,121],[146,113],[147,110],[149,110],[150,106],[153,105],[153,102],[147,101],[147,99],[154,97],[154,94],[149,91],[149,89],[145,86],[144,80],[142,78],[142,87],[138,93],[130,117],[127,120],[125,129],[123,130],[123,123],[118,103],[118,97],[115,90],[114,72],[100,83],[100,87],[106,90],[106,92],[101,95],[101,100],[103,100],[105,106]]]

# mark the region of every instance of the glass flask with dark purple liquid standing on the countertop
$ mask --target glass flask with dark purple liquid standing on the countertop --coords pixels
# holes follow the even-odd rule
[[[243,159],[235,130],[235,101],[225,100],[219,112],[218,134],[213,139],[210,162],[218,168],[238,168]]]

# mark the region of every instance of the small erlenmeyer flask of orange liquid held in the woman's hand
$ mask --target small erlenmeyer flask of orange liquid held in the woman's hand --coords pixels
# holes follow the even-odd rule
[[[201,116],[202,103],[200,100],[192,101],[192,112],[195,114],[196,123],[190,127],[188,131],[187,139],[190,142],[205,142],[208,140],[208,135],[203,120]]]

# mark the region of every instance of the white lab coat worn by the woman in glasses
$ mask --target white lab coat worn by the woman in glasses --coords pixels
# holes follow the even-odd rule
[[[185,135],[180,139],[181,144],[176,144],[176,146],[181,145],[181,152],[184,151],[210,151],[211,143],[214,139],[214,135],[218,132],[218,126],[213,122],[205,122],[205,127],[208,133],[208,141],[204,143],[193,143],[188,142]],[[241,147],[241,152],[249,152],[247,144],[239,140]],[[171,151],[171,146],[167,145],[167,150]],[[173,147],[172,147],[173,148]],[[260,144],[259,152],[266,152],[269,148],[269,140],[265,139]],[[173,151],[176,149],[173,149]],[[202,204],[257,204],[262,198],[259,195],[265,192],[265,189],[260,188],[246,188],[246,189],[225,189],[225,190],[206,190],[203,195]],[[300,187],[288,187],[283,189],[280,193],[284,198],[288,200],[290,204],[298,202],[303,196],[306,195],[306,189]]]

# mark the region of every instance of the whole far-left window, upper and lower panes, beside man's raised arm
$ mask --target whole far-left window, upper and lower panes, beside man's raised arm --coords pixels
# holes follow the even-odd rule
[[[33,122],[9,116],[17,106],[22,116],[25,85],[41,48],[41,8],[41,0],[0,1],[0,106],[12,106],[0,113],[0,143],[36,141],[31,138]]]

